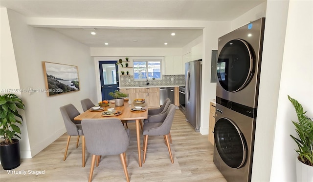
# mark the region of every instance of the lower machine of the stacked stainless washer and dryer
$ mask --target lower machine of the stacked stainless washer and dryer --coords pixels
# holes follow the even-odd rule
[[[255,119],[233,110],[246,110],[240,104],[222,104],[216,103],[213,161],[228,182],[250,182]]]

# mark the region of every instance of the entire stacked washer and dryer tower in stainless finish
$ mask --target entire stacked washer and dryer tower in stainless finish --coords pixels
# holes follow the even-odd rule
[[[250,182],[265,18],[219,38],[214,163],[229,182]]]

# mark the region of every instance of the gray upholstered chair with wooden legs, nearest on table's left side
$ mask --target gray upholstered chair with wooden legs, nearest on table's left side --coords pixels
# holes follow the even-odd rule
[[[80,113],[72,104],[67,104],[60,107],[60,111],[64,120],[65,128],[67,129],[67,147],[65,149],[63,161],[67,159],[67,149],[71,136],[78,136],[76,148],[78,147],[79,136],[82,136],[82,152],[83,152],[83,167],[85,167],[85,137],[82,129],[81,121],[75,121],[74,118]]]

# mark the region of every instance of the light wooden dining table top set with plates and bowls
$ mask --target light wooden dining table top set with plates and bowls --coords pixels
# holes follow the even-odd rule
[[[138,104],[135,104],[138,105]],[[140,104],[141,106],[147,108],[146,103]],[[122,113],[117,116],[102,116],[104,111],[107,111],[108,108],[114,108],[117,111],[121,111]],[[128,103],[127,101],[124,102],[124,106],[115,107],[114,103],[110,103],[109,106],[105,107],[104,111],[85,111],[84,113],[76,116],[74,120],[81,121],[83,119],[109,119],[109,118],[118,118],[120,120],[141,120],[148,118],[148,109],[142,112],[133,112],[131,108],[134,108],[134,103]]]

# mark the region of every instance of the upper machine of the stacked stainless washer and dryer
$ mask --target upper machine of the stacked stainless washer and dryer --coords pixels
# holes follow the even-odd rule
[[[265,18],[219,38],[216,97],[257,108]]]

